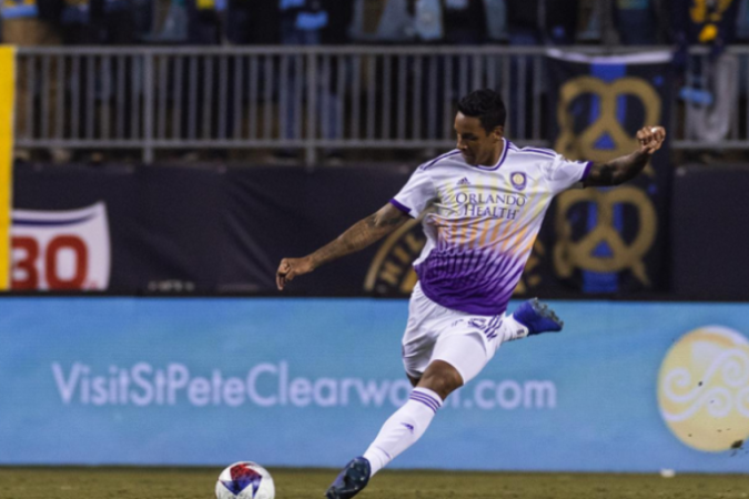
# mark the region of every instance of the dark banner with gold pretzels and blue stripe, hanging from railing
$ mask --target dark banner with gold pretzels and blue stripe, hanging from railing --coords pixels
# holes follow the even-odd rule
[[[607,162],[631,154],[639,129],[670,122],[669,52],[549,55],[553,149],[567,159]],[[585,293],[664,288],[670,171],[667,140],[626,185],[561,194],[549,252],[555,276]]]

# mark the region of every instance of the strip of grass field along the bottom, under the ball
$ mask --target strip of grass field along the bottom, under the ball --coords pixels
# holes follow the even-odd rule
[[[0,468],[0,498],[211,499],[220,469]],[[279,499],[321,499],[335,470],[271,469]],[[749,475],[383,471],[362,499],[748,498]]]

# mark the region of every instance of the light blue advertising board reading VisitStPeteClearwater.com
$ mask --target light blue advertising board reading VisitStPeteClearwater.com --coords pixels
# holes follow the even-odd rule
[[[551,305],[565,330],[503,345],[393,467],[749,469],[749,305]],[[406,315],[402,299],[0,299],[0,464],[342,466],[407,399]]]

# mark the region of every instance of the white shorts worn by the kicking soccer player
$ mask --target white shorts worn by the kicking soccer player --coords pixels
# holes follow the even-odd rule
[[[445,308],[432,302],[416,283],[408,303],[408,324],[403,335],[403,365],[412,378],[421,378],[434,360],[455,367],[463,384],[475,378],[506,338],[504,315],[476,315]]]

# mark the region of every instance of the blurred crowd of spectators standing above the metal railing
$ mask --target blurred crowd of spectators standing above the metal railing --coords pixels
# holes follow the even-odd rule
[[[695,44],[749,41],[749,0],[1,0],[50,44]]]

